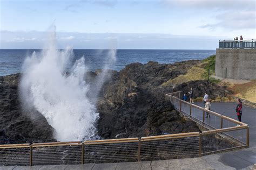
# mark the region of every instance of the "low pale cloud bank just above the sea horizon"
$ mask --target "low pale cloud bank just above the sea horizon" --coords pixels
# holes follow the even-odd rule
[[[45,33],[38,31],[1,31],[0,48],[41,48]],[[175,36],[172,34],[143,33],[79,33],[57,32],[59,48],[72,46],[80,49],[215,49],[224,37]]]

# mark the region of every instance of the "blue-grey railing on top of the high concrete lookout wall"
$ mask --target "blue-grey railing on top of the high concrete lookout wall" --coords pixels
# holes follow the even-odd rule
[[[219,41],[219,48],[256,48],[256,40],[223,40]]]

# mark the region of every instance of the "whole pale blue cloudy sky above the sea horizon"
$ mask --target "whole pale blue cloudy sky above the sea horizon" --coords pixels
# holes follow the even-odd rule
[[[255,0],[0,0],[0,48],[215,49],[256,39]]]

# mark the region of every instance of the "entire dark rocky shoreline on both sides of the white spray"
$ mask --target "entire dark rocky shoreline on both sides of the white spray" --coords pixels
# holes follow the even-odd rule
[[[200,63],[199,60],[159,64],[150,61],[145,65],[132,63],[120,72],[109,70],[109,78],[97,96],[99,119],[97,135],[105,138],[127,138],[158,134],[199,131],[195,123],[184,120],[173,109],[164,95],[172,91],[194,88],[195,96],[205,92],[211,98],[231,92],[206,81],[190,81],[178,86],[162,86],[170,79],[186,74]],[[100,70],[85,76],[89,86]],[[21,74],[0,77],[0,144],[36,143],[56,141],[54,129],[36,110],[24,110],[19,99],[18,83]],[[95,98],[93,94],[87,94]]]

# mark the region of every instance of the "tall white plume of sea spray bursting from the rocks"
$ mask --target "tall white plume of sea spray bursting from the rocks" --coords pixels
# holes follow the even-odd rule
[[[115,60],[115,55],[111,55],[110,61]],[[86,96],[91,89],[84,79],[87,71],[85,59],[77,60],[66,73],[72,58],[71,48],[57,49],[53,30],[46,48],[33,52],[23,64],[20,84],[23,105],[39,111],[55,129],[55,137],[59,141],[91,137],[98,118],[95,103]],[[104,77],[98,80],[100,84],[93,90],[99,91],[102,87]]]

